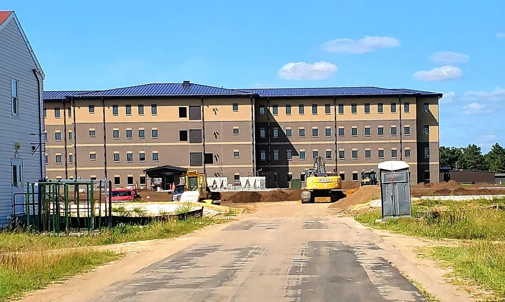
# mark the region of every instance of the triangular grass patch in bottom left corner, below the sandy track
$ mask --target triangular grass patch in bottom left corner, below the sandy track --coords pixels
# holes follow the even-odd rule
[[[43,249],[0,252],[0,301],[21,297],[26,291],[44,288],[119,257],[112,251],[88,248],[49,254]]]

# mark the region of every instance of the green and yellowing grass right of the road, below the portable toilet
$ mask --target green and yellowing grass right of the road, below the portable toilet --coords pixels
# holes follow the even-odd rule
[[[357,215],[358,222],[389,231],[432,239],[462,239],[450,246],[428,248],[464,283],[494,293],[487,301],[505,301],[505,211],[503,199],[421,200],[413,204],[412,218],[381,218],[379,211]]]

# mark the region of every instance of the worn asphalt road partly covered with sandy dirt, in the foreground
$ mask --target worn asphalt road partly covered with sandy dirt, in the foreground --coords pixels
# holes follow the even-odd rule
[[[228,224],[113,283],[94,301],[426,301],[388,251],[344,218]]]

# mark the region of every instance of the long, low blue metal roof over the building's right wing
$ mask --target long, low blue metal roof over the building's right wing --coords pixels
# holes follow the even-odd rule
[[[379,87],[324,87],[324,88],[260,88],[260,89],[238,89],[256,93],[260,96],[333,96],[333,95],[410,95],[429,94],[438,95],[440,93],[418,91],[411,89],[388,89]],[[441,94],[440,94],[441,95]]]

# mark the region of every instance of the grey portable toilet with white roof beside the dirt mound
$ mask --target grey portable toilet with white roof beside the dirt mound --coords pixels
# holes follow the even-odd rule
[[[406,162],[379,163],[382,219],[412,216],[410,168]]]

